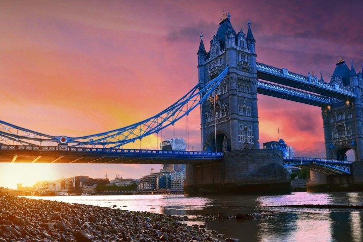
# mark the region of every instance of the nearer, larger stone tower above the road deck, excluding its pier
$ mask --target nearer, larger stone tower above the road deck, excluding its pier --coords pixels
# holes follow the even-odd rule
[[[236,33],[229,13],[219,23],[209,52],[201,35],[198,50],[201,88],[229,67],[227,76],[201,105],[204,151],[259,148],[255,43],[250,21],[247,36],[242,30]]]

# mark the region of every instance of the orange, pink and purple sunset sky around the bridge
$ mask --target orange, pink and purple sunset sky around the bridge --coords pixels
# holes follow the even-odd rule
[[[256,39],[257,61],[329,82],[341,56],[363,63],[361,1],[1,1],[0,120],[49,135],[90,135],[163,110],[198,82],[223,10]],[[296,156],[325,157],[321,110],[258,95],[260,144],[283,138]],[[199,110],[189,147],[200,150]],[[185,138],[186,120],[175,126]],[[279,130],[279,133],[278,133]],[[157,148],[172,132],[150,137]],[[131,147],[132,148],[132,147]],[[136,143],[135,148],[140,148]],[[139,178],[160,165],[0,164],[0,186],[74,175]]]

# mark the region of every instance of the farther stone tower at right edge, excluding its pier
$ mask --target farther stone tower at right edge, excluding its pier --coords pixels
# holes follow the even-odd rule
[[[347,67],[342,58],[336,64],[331,84],[354,91],[355,100],[332,99],[333,104],[322,109],[326,157],[347,160],[345,153],[354,151],[354,160],[363,161],[363,79],[351,62]]]

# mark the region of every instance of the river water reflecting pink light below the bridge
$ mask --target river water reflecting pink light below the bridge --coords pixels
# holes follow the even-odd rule
[[[205,224],[226,237],[239,241],[363,241],[363,210],[286,208],[279,205],[363,205],[363,193],[292,193],[278,196],[185,197],[184,195],[29,197],[149,211],[166,215],[187,215],[188,224]],[[197,216],[234,216],[262,213],[257,220],[202,220]],[[224,238],[220,238],[224,240]]]

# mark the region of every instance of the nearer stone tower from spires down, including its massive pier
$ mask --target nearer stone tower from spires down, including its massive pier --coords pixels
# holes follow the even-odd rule
[[[259,149],[255,38],[236,33],[228,14],[207,52],[198,50],[201,88],[228,66],[228,74],[201,105],[202,149],[223,151],[223,160],[186,166],[189,195],[290,193],[290,175],[281,151]]]

